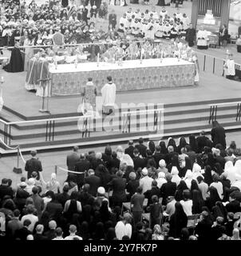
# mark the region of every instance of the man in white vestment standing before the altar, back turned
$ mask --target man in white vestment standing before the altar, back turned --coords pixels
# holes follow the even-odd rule
[[[113,113],[116,102],[117,86],[113,83],[111,76],[107,77],[108,83],[101,89],[103,113]]]

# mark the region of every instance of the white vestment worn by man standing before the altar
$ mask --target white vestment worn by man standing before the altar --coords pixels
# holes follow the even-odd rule
[[[101,89],[103,108],[115,106],[117,87],[113,82],[106,83]]]

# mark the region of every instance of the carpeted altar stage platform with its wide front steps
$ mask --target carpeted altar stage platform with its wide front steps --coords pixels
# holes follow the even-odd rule
[[[36,120],[45,118],[66,118],[78,116],[77,108],[81,103],[79,96],[65,96],[49,98],[49,110],[51,114],[41,114],[41,98],[25,88],[26,72],[19,74],[6,73],[1,70],[6,82],[3,85],[4,109],[0,117],[6,122],[18,122],[24,120]],[[227,80],[203,72],[200,74],[200,84],[173,89],[140,90],[117,93],[117,105],[121,103],[133,104],[159,104],[164,105],[164,130],[163,136],[179,136],[180,134],[199,133],[200,130],[210,130],[208,124],[209,106],[207,104],[220,102],[239,101],[241,83]],[[133,109],[134,110],[134,109]],[[219,122],[232,129],[239,129],[240,122],[235,122],[236,106],[221,107],[218,113]],[[141,121],[141,120],[140,120]],[[117,128],[117,123],[113,126]],[[140,124],[141,125],[145,125]],[[69,122],[57,122],[55,127],[55,138],[45,139],[46,124],[30,123],[13,126],[11,130],[11,146],[21,145],[22,149],[31,148],[61,148],[79,144],[81,146],[103,145],[107,142],[126,141],[128,138],[138,138],[140,135],[148,138],[148,133],[134,132],[130,134],[99,132],[90,134],[90,137],[82,138],[80,130],[77,129],[77,119]],[[1,125],[1,130],[4,127]],[[150,133],[149,133],[150,134]],[[152,134],[153,135],[153,134]],[[155,135],[155,134],[154,134]],[[49,135],[48,135],[49,136]],[[157,137],[160,135],[157,134]],[[1,138],[3,136],[1,135]]]

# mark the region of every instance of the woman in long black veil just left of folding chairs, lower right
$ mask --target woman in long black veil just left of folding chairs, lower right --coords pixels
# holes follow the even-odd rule
[[[183,206],[180,202],[175,204],[175,212],[170,218],[169,237],[180,238],[181,230],[188,225],[188,217],[184,212]]]

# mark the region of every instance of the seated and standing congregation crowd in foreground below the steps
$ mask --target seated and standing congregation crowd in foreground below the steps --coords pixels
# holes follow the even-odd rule
[[[43,182],[31,155],[17,187],[2,178],[2,239],[240,240],[241,150],[226,145],[218,122],[189,142],[140,138],[86,154],[75,146],[64,184],[55,173]]]

